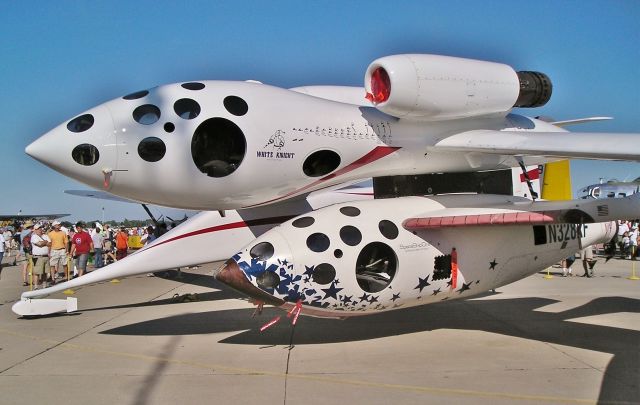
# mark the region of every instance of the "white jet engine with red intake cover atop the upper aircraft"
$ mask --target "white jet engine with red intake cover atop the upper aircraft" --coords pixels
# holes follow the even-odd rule
[[[505,114],[514,106],[544,105],[551,81],[538,72],[440,55],[386,56],[369,65],[367,98],[398,118],[445,120]]]

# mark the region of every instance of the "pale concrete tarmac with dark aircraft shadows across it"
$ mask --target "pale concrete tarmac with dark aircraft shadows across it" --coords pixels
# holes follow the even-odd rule
[[[219,263],[86,286],[76,314],[36,319],[11,311],[24,287],[5,267],[0,403],[640,403],[640,281],[631,261],[603,262],[590,279],[552,269],[476,299],[262,333],[284,312],[252,318],[211,276]],[[199,301],[172,299],[187,293]]]

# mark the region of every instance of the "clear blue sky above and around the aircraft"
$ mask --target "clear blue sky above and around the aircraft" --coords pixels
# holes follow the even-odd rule
[[[610,115],[616,119],[573,130],[640,132],[639,21],[637,0],[5,1],[0,213],[62,211],[88,220],[105,207],[107,219],[145,218],[137,205],[63,194],[86,187],[24,154],[38,136],[97,104],[191,80],[360,86],[373,59],[397,53],[539,70],[554,94],[526,114]],[[638,176],[638,163],[572,162],[574,190],[600,177]]]

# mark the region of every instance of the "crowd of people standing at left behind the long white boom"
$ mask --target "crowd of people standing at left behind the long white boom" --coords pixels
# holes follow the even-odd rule
[[[3,258],[13,256],[14,266],[22,263],[23,286],[46,288],[82,276],[90,262],[99,269],[123,259],[132,237],[139,245],[151,243],[167,231],[162,225],[114,229],[98,222],[64,227],[60,221],[28,221],[5,227],[0,229],[0,271]]]

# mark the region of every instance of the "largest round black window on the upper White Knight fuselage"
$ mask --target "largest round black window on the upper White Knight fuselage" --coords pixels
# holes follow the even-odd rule
[[[191,157],[209,177],[225,177],[236,171],[247,151],[242,130],[224,118],[209,118],[196,128],[191,139]]]

